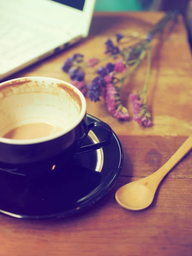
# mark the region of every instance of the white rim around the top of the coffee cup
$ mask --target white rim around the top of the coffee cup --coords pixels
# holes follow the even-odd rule
[[[4,84],[10,83],[12,81],[17,81],[17,80],[22,80],[22,79],[30,79],[30,80],[36,80],[39,81],[41,79],[41,81],[46,81],[46,80],[50,80],[50,82],[53,83],[63,83],[67,86],[69,86],[70,88],[72,88],[74,90],[75,93],[77,93],[81,99],[81,111],[80,114],[78,116],[78,118],[76,119],[75,123],[68,128],[67,130],[61,130],[58,132],[55,132],[54,134],[45,136],[45,137],[40,137],[37,139],[29,139],[29,140],[18,140],[18,139],[8,139],[8,138],[3,138],[0,137],[0,143],[6,143],[6,144],[12,144],[12,145],[29,145],[29,144],[37,144],[37,143],[44,143],[46,141],[49,140],[54,140],[58,137],[61,137],[64,134],[67,134],[68,132],[72,131],[74,128],[76,128],[76,126],[79,125],[79,123],[82,121],[82,119],[84,118],[85,114],[86,114],[86,110],[87,110],[87,103],[86,103],[86,99],[84,97],[84,95],[81,93],[81,91],[76,88],[73,84],[70,84],[66,81],[63,81],[61,79],[57,79],[57,78],[51,78],[51,77],[46,77],[46,76],[26,76],[26,77],[20,77],[20,78],[15,78],[15,79],[11,79],[8,81],[4,81],[2,83],[0,83],[0,88],[1,86],[3,86]]]

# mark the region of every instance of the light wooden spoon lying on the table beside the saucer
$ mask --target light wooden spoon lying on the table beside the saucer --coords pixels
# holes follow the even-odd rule
[[[133,211],[147,208],[152,203],[161,180],[163,180],[168,172],[170,172],[191,149],[192,136],[190,136],[175,154],[156,172],[141,180],[136,180],[120,187],[115,194],[118,204],[125,209]]]

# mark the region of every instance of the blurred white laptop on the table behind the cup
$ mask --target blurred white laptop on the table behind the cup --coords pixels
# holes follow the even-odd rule
[[[88,35],[96,0],[0,0],[0,80]]]

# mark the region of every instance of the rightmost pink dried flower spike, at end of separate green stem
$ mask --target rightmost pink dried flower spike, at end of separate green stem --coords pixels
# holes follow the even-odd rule
[[[133,105],[134,121],[143,127],[152,126],[151,114],[148,111],[146,103],[136,93],[130,95]]]

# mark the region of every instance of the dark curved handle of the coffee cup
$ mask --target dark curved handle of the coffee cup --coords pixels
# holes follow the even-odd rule
[[[107,131],[106,140],[103,140],[96,144],[83,146],[80,148],[80,150],[77,154],[85,153],[85,152],[92,151],[92,150],[97,150],[99,148],[103,148],[103,147],[107,146],[110,143],[113,132],[111,130],[111,127],[102,121],[91,122],[89,125],[87,125],[87,131],[86,131],[85,137],[87,136],[89,131],[92,130],[94,127],[98,127],[102,130],[104,129],[105,131]]]

